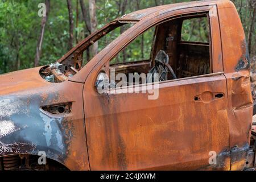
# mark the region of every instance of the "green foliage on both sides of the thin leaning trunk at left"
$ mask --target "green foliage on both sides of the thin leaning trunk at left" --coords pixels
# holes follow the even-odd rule
[[[33,67],[42,19],[38,16],[40,2],[0,1],[0,73]],[[52,63],[68,51],[68,26],[65,1],[51,1],[40,65]]]

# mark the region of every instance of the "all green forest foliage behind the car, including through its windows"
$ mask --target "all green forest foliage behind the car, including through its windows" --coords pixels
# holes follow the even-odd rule
[[[146,9],[162,4],[170,4],[177,2],[186,2],[189,0],[127,0],[127,5],[124,11],[122,5],[125,0],[97,0],[96,1],[96,14],[98,28],[104,26],[104,24],[118,18],[122,14],[131,13],[138,9]],[[236,0],[238,13],[241,16],[243,26],[245,28],[246,36],[249,35],[252,11],[248,1]],[[31,68],[34,66],[36,43],[38,42],[38,36],[40,34],[41,20],[38,16],[38,4],[44,2],[42,0],[1,0],[0,1],[0,73],[15,71],[17,69]],[[79,7],[79,21],[76,27],[76,3],[77,0],[72,0],[73,7],[73,19],[74,19],[74,42],[80,42],[85,38],[85,34],[88,34],[88,30],[85,27],[84,20],[82,19],[80,4]],[[88,10],[88,0],[84,0],[85,6]],[[86,12],[89,16],[88,11]],[[255,20],[254,20],[255,21]],[[193,31],[191,34],[191,28]],[[254,23],[254,27],[256,23]],[[207,24],[202,22],[188,22],[184,24],[183,38],[184,40],[192,41],[205,41],[208,39]],[[129,26],[124,29],[129,28]],[[105,38],[99,40],[98,50],[103,49],[107,44],[112,42],[121,33],[120,28],[115,29]],[[253,30],[253,36],[251,40],[251,50],[256,50],[255,46],[255,34],[256,28]],[[195,35],[195,36],[193,36]],[[199,36],[197,36],[199,35]],[[126,60],[133,61],[147,59],[149,57],[150,50],[147,47],[151,46],[151,33],[144,34],[142,50],[142,38],[141,36],[135,40],[129,47],[129,51],[126,51]],[[198,39],[200,37],[200,39]],[[50,1],[49,16],[46,23],[46,29],[44,32],[42,55],[40,57],[40,65],[52,63],[63,56],[68,51],[68,39],[69,39],[69,19],[67,1],[54,0]],[[142,53],[143,52],[143,53]],[[134,57],[134,58],[131,58]],[[123,61],[122,53],[118,55],[117,62]]]

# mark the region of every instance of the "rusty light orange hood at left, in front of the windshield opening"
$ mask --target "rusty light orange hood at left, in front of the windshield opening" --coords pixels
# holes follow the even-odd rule
[[[0,95],[31,90],[51,84],[39,75],[42,67],[23,69],[0,75]]]

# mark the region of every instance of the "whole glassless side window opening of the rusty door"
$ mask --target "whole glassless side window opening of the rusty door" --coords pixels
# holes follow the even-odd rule
[[[127,78],[129,73],[158,73],[158,81],[207,75],[212,73],[210,42],[207,13],[180,17],[151,27],[109,64],[115,75]]]

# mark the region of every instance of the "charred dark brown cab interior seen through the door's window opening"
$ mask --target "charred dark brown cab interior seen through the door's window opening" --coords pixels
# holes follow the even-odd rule
[[[160,81],[212,73],[208,19],[207,14],[201,14],[189,16],[189,18],[176,18],[159,24],[155,27],[152,47],[148,47],[151,49],[149,60],[131,62],[123,60],[122,63],[113,63],[114,61],[112,61],[110,68],[115,69],[116,75],[118,73],[154,73],[154,69],[159,73],[159,69],[161,69],[159,68],[159,53],[162,53],[160,63],[162,62],[164,65],[162,69],[163,71],[164,68],[166,69],[167,76],[160,78]],[[205,38],[200,38],[201,35],[193,35],[195,27],[186,27],[191,25],[184,24],[186,20],[207,22],[208,35]],[[183,32],[186,31],[183,30],[184,28],[191,31],[189,32],[190,38],[183,38]],[[195,39],[191,39],[193,36]]]

